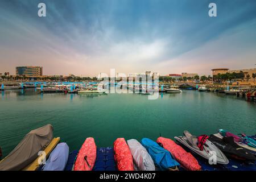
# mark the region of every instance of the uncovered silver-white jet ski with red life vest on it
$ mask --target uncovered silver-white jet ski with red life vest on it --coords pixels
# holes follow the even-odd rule
[[[216,147],[212,142],[210,142],[208,139],[205,140],[205,143],[203,145],[203,150],[200,150],[200,148],[197,146],[197,138],[195,135],[191,135],[188,131],[184,131],[183,137],[175,137],[177,142],[183,144],[185,147],[188,147],[189,150],[192,152],[195,152],[197,155],[200,155],[201,157],[209,160],[213,153],[212,151],[216,152],[216,163],[218,164],[228,164],[229,160],[226,158],[226,156],[221,152],[218,147]]]

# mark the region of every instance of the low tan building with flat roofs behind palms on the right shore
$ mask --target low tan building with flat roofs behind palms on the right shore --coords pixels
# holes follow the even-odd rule
[[[229,70],[228,68],[216,68],[216,69],[212,69],[212,77],[213,77],[213,81],[214,80],[214,76],[217,76],[218,73],[220,74],[225,74],[225,73],[240,73],[243,72],[243,74],[245,75],[250,75],[250,79],[249,81],[253,81],[253,73],[256,73],[256,68],[251,68],[251,69],[235,69],[235,70]]]

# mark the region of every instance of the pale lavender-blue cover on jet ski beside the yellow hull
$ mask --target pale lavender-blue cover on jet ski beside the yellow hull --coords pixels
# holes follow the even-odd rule
[[[43,171],[63,171],[68,161],[69,147],[67,143],[59,143],[51,152]]]

